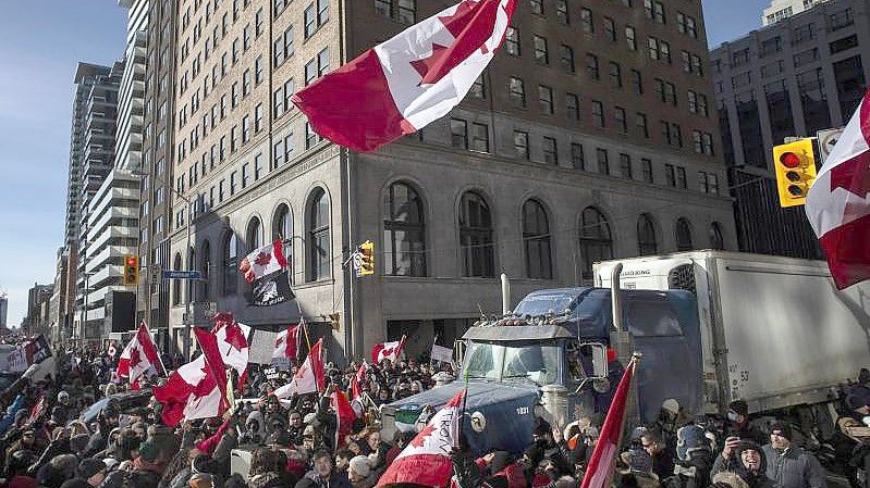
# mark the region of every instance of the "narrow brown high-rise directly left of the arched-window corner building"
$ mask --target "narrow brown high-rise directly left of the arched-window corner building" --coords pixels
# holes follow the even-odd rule
[[[175,35],[176,0],[148,3],[145,84],[145,134],[143,139],[139,204],[139,255],[143,273],[139,280],[138,314],[166,343],[169,326],[169,281],[154,275],[155,267],[168,268],[170,262],[170,221],[173,191],[173,137],[175,123]],[[156,279],[155,279],[156,278]]]

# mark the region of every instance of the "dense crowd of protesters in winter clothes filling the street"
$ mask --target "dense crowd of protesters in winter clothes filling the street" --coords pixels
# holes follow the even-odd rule
[[[57,378],[32,381],[33,368],[0,392],[0,478],[9,488],[370,488],[415,431],[384,439],[378,408],[436,386],[448,367],[384,361],[362,381],[362,415],[344,439],[328,395],[279,400],[272,391],[293,370],[267,377],[252,367],[241,400],[225,417],[161,423],[161,406],[125,406],[109,399],[91,422],[79,414],[126,389],[110,383],[111,361],[74,354]],[[346,390],[359,364],[327,365],[329,386]],[[443,370],[443,371],[442,371]],[[868,375],[870,376],[870,375]],[[870,384],[870,377],[865,378]],[[146,386],[147,387],[147,386]],[[146,388],[147,390],[147,388]],[[870,392],[870,389],[868,389]],[[870,395],[867,396],[870,399]],[[866,405],[862,405],[866,406]],[[577,418],[564,429],[536,420],[534,442],[522,453],[495,450],[482,458],[467,442],[452,453],[453,481],[463,488],[578,488],[595,449],[601,418]],[[816,458],[793,443],[784,422],[761,431],[745,402],[727,418],[707,423],[674,400],[651,425],[626,434],[613,484],[625,488],[823,488]],[[231,471],[231,451],[252,448],[246,476]]]

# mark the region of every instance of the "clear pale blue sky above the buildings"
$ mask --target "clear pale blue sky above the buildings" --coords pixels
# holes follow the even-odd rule
[[[718,46],[758,28],[769,1],[703,3],[710,46]],[[9,292],[9,324],[17,326],[27,313],[27,289],[54,279],[76,63],[108,65],[121,58],[126,10],[117,0],[7,1],[2,7],[0,290]]]

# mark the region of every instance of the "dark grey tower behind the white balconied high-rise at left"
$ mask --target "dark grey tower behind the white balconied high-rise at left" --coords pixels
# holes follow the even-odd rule
[[[118,90],[123,70],[123,62],[117,62],[112,67],[78,63],[75,75],[78,89],[73,118],[70,167],[72,174],[76,164],[78,172],[75,182],[71,178],[70,192],[72,193],[72,188],[75,186],[77,189],[75,309],[78,317],[75,321],[73,337],[81,340],[96,341],[101,336],[101,328],[88,317],[89,310],[86,306],[86,303],[91,302],[87,297],[91,285],[90,275],[86,271],[87,258],[93,256],[93,252],[88,253],[88,247],[96,232],[90,225],[99,224],[90,218],[89,212],[96,204],[94,197],[114,162]],[[85,323],[88,323],[88,327],[85,327]]]

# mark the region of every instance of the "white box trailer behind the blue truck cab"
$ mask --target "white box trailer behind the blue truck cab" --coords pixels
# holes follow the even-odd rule
[[[707,413],[821,404],[870,367],[870,283],[838,291],[823,261],[681,252],[596,263],[596,286],[617,262],[621,288],[696,293]]]

